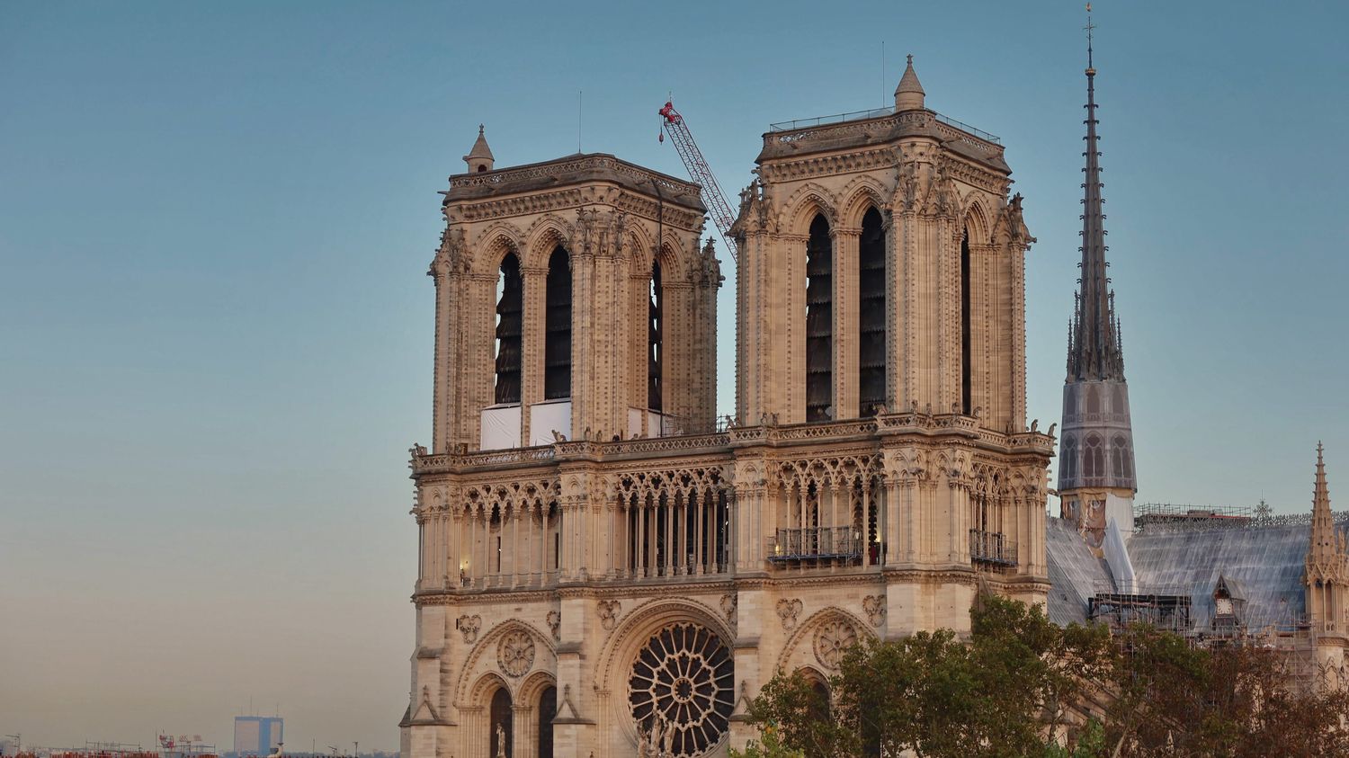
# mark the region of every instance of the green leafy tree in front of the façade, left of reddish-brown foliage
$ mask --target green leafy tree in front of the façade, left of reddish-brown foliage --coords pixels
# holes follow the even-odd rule
[[[807,758],[898,755],[1012,758],[1041,754],[1044,727],[1109,669],[1102,627],[1060,629],[1037,606],[983,597],[971,635],[921,631],[849,650],[819,688],[778,673],[750,707]]]

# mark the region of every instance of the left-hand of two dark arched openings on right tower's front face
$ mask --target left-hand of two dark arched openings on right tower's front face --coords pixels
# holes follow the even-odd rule
[[[805,421],[834,417],[834,240],[824,214],[805,243]]]

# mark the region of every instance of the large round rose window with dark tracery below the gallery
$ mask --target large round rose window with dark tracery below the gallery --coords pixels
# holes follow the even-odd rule
[[[673,758],[701,755],[726,734],[734,680],[731,651],[712,631],[676,623],[656,633],[627,680],[638,739]]]

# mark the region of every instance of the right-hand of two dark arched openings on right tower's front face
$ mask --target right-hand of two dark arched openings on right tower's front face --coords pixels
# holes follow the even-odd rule
[[[858,415],[876,415],[885,402],[885,228],[881,213],[871,208],[862,216],[862,236],[857,248],[858,267]]]

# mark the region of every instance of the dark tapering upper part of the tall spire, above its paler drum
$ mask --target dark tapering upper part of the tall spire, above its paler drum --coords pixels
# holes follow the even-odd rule
[[[1093,61],[1090,5],[1087,7],[1087,117],[1086,158],[1082,182],[1082,263],[1077,302],[1077,333],[1068,352],[1068,380],[1124,379],[1124,355],[1114,316],[1114,297],[1109,289],[1109,264],[1105,260],[1105,213],[1101,206],[1101,151],[1097,147],[1095,65]]]

